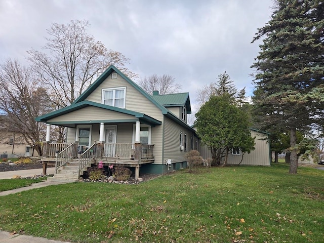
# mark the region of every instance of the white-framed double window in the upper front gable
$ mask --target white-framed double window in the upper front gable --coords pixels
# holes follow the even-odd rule
[[[102,89],[102,104],[125,108],[125,101],[126,87]]]

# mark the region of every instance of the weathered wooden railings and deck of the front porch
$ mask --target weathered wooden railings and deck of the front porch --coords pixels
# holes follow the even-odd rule
[[[91,165],[135,167],[135,178],[139,177],[143,164],[154,162],[154,145],[151,144],[117,144],[95,142],[86,150],[82,150],[77,142],[44,143],[42,161],[55,162],[55,172],[68,164],[77,164],[77,174],[80,176]]]

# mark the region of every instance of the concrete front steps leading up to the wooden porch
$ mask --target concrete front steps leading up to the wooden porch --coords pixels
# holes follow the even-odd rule
[[[89,165],[90,167],[91,165]],[[48,177],[48,181],[56,182],[77,182],[79,181],[78,174],[78,162],[69,162],[66,166],[62,166],[57,170],[57,173],[53,177]],[[83,175],[83,172],[86,171],[88,167],[85,167],[84,170],[80,171],[80,174]]]

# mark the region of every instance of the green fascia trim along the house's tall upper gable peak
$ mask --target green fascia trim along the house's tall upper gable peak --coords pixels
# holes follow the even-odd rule
[[[144,95],[149,101],[151,101],[157,108],[159,108],[163,114],[167,113],[167,108],[156,102],[149,94],[147,94],[141,87],[135,84],[130,78],[125,76],[120,72],[114,65],[110,65],[106,71],[104,71],[97,80],[84,92],[82,93],[73,104],[84,101],[98,86],[113,72],[115,71],[118,75],[123,77],[130,85],[132,85],[136,90],[138,90],[142,95]]]

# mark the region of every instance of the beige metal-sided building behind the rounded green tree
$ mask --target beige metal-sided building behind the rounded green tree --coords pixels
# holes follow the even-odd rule
[[[232,148],[228,154],[228,165],[254,165],[254,166],[270,166],[271,163],[271,150],[269,143],[269,133],[250,129],[251,136],[255,137],[255,149],[251,153],[243,153],[239,148]],[[203,158],[211,158],[212,154],[207,146],[201,146],[200,154]],[[243,155],[243,160],[242,160]],[[242,161],[241,161],[242,160]]]

